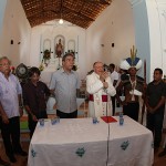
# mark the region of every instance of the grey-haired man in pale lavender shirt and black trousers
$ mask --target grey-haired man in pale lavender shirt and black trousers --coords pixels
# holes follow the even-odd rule
[[[15,163],[14,154],[27,156],[20,145],[20,115],[23,113],[21,103],[22,89],[18,79],[11,74],[10,61],[0,59],[0,125],[6,154],[10,162]]]

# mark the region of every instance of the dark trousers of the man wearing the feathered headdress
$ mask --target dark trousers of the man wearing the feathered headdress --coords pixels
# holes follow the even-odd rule
[[[138,121],[139,103],[127,103],[127,105],[123,106],[123,113],[124,115],[127,115],[131,118]]]

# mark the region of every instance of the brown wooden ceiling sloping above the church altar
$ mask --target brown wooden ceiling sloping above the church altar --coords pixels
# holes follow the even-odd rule
[[[87,28],[112,0],[20,0],[31,27],[64,19]]]

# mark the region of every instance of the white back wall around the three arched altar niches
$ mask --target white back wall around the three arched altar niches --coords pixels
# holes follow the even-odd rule
[[[54,25],[38,25],[32,28],[31,33],[31,49],[30,49],[30,64],[39,66],[42,59],[42,51],[43,51],[43,41],[44,39],[50,39],[51,41],[51,51],[54,53],[54,38],[56,35],[63,35],[65,38],[65,52],[68,51],[68,41],[69,40],[75,40],[76,42],[76,64],[79,65],[79,74],[80,77],[83,79],[85,75],[85,69],[86,69],[86,61],[85,61],[85,30],[75,25],[60,25],[55,21],[50,22],[51,24],[54,23]],[[53,58],[52,53],[52,58]],[[56,59],[58,60],[58,59]],[[55,61],[56,61],[55,60]],[[52,61],[54,61],[52,59]],[[53,63],[53,62],[51,62]],[[50,68],[50,66],[48,66]],[[44,69],[49,71],[55,71],[55,68],[51,69]]]

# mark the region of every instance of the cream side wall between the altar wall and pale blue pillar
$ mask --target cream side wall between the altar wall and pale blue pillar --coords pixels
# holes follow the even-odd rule
[[[127,0],[115,0],[86,30],[86,68],[91,70],[95,61],[120,65],[122,59],[131,56],[133,44],[135,31],[132,6]]]

